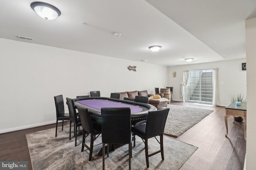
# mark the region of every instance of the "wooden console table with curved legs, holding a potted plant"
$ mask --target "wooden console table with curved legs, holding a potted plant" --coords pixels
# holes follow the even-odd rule
[[[244,139],[246,140],[246,102],[241,102],[241,105],[236,105],[236,102],[232,102],[225,107],[225,111],[226,111],[225,125],[226,125],[226,131],[227,131],[225,136],[228,135],[228,122],[227,122],[228,117],[234,116],[233,123],[235,121],[235,117],[242,117],[245,121]]]

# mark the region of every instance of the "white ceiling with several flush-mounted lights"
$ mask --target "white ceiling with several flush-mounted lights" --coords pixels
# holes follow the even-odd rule
[[[1,38],[163,66],[245,58],[244,20],[256,17],[256,0],[44,0],[61,11],[44,20],[32,2],[0,0]]]

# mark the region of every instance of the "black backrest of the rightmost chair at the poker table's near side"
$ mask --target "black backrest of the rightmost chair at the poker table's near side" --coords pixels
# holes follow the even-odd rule
[[[150,138],[164,133],[169,108],[148,111],[145,137]]]

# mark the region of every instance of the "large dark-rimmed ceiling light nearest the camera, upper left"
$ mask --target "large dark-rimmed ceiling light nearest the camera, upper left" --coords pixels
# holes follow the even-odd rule
[[[32,2],[30,6],[36,14],[46,20],[54,20],[61,14],[58,8],[45,2]]]

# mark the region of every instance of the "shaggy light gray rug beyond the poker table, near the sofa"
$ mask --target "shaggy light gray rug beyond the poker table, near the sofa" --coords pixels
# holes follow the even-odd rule
[[[198,109],[193,107],[169,105],[170,108],[166,120],[164,134],[179,137],[188,129],[208,116],[213,110]]]

